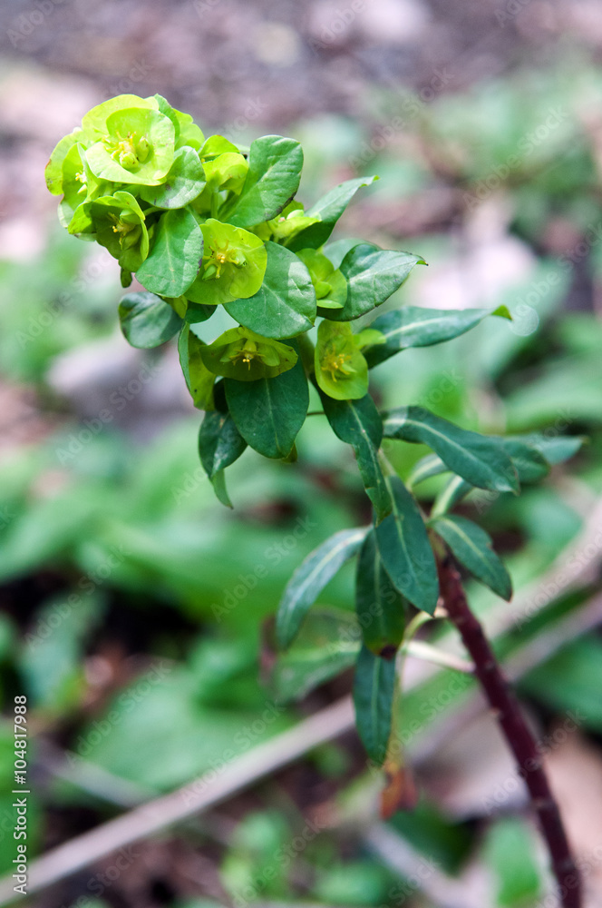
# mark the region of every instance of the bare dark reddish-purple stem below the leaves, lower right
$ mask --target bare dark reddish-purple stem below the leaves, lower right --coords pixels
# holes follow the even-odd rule
[[[581,908],[580,876],[568,847],[558,804],[543,770],[538,746],[508,681],[501,673],[481,624],[471,612],[460,574],[449,556],[440,563],[439,574],[447,613],[471,655],[474,674],[500,723],[501,731],[518,764],[519,775],[529,789],[533,810],[538,816],[541,832],[548,845],[552,871],[558,881],[560,903],[563,908]]]

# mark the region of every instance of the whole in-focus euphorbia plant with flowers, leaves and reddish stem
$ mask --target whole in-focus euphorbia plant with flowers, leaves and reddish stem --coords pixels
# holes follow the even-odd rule
[[[205,138],[160,95],[121,95],[95,107],[58,143],[46,179],[63,195],[66,229],[111,252],[124,287],[135,272],[144,288],[121,300],[126,339],[152,348],[178,334],[184,378],[205,410],[200,459],[222,502],[230,504],[224,471],[248,446],[267,458],[296,459],[309,383],[316,386],[335,435],[354,449],[374,518],[369,527],[336,533],[297,568],[277,613],[278,646],[291,645],[320,591],[356,557],[363,637],[354,678],[357,728],[374,763],[394,769],[395,655],[417,616],[432,616],[439,603],[461,633],[529,788],[562,903],[578,908],[578,874],[537,746],[471,614],[456,564],[504,599],[511,597],[510,577],[487,533],[452,513],[475,488],[518,493],[521,482],[543,477],[577,443],[483,436],[408,404],[377,410],[369,370],[508,312],[404,306],[357,327],[422,258],[371,242],[329,242],[354,193],[376,177],[341,183],[306,210],[296,201],[302,164],[294,139],[266,135],[238,148],[220,135]],[[201,340],[199,325],[218,306],[236,326]],[[403,482],[384,458],[383,439],[422,443],[432,454]],[[427,516],[413,489],[446,473]]]

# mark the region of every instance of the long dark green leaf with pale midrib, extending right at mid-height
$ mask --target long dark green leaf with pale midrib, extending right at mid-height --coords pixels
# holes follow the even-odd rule
[[[428,445],[473,486],[518,492],[519,478],[500,438],[460,429],[423,407],[399,407],[384,418],[384,437]]]

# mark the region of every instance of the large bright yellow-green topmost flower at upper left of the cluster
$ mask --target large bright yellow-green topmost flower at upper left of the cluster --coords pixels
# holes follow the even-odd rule
[[[116,104],[120,98],[112,98],[86,114],[83,129],[92,140],[86,161],[101,180],[157,186],[173,163],[176,129],[154,98],[134,100]]]

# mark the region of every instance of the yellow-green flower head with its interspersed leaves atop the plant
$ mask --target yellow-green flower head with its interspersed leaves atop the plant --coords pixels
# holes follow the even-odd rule
[[[375,178],[342,183],[306,212],[295,199],[302,165],[293,139],[268,135],[238,148],[221,135],[206,138],[159,94],[121,94],[85,114],[56,145],[46,183],[62,195],[59,218],[68,232],[104,246],[121,266],[124,287],[135,273],[148,291],[125,298],[123,311],[133,306],[137,315],[122,323],[132,344],[151,345],[153,320],[157,342],[166,340],[168,307],[173,332],[183,325],[190,333],[221,305],[238,328],[182,363],[187,380],[209,387],[210,375],[274,378],[296,365],[291,341],[319,316],[310,377],[336,400],[353,400],[366,393],[368,365],[348,322],[384,301],[407,271],[387,292],[366,297],[354,252],[400,253],[362,243],[329,257],[325,244],[354,192]],[[142,317],[140,341],[134,326]],[[194,378],[190,367],[210,375]]]

